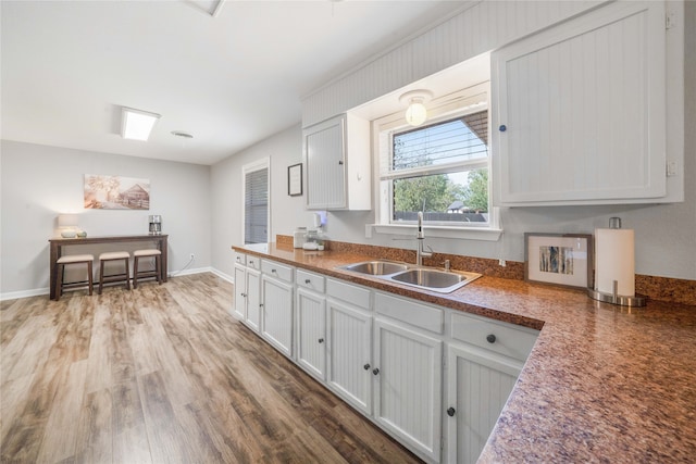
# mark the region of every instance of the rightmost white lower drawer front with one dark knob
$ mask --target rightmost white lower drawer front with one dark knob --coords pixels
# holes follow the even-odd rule
[[[525,361],[538,331],[470,315],[452,314],[452,338]]]

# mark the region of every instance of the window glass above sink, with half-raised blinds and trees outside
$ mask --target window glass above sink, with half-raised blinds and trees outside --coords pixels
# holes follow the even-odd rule
[[[487,222],[487,111],[393,138],[394,221]]]

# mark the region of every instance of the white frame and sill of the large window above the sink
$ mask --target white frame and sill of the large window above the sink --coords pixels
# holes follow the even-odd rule
[[[428,121],[427,124],[434,124],[445,122],[453,117],[476,113],[482,110],[488,110],[488,122],[490,122],[490,109],[489,109],[489,83],[482,83],[467,89],[459,90],[448,96],[433,100],[428,108]],[[485,102],[482,104],[482,102]],[[389,172],[389,165],[391,163],[391,142],[393,134],[402,131],[408,128],[406,121],[403,120],[403,112],[393,113],[384,117],[374,120],[373,124],[373,153],[374,156],[374,183],[375,191],[377,192],[375,201],[376,210],[376,224],[372,224],[365,230],[368,237],[372,231],[377,234],[389,235],[403,235],[410,236],[414,234],[415,223],[399,223],[393,224],[393,211],[391,211],[391,185],[390,179],[399,177],[399,175],[393,175]],[[488,140],[490,140],[490,124],[488,124]],[[498,209],[493,206],[492,199],[492,165],[490,165],[490,145],[488,143],[488,156],[485,160],[472,160],[463,161],[456,164],[457,167],[463,170],[476,170],[481,167],[488,168],[488,223],[486,224],[444,224],[444,223],[426,223],[427,235],[430,237],[442,238],[465,238],[474,240],[496,241],[502,234],[502,229],[499,224]],[[438,174],[442,172],[450,171],[452,164],[446,167],[422,167],[409,170],[409,173],[413,174]]]

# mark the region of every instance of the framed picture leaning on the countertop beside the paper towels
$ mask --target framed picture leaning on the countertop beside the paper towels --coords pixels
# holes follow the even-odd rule
[[[593,276],[589,234],[524,234],[524,279],[588,288]]]

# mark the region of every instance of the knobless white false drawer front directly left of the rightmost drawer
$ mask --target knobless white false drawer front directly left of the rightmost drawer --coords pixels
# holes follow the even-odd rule
[[[421,327],[435,334],[444,331],[445,312],[438,308],[428,306],[400,297],[386,293],[375,293],[374,310],[397,321]]]

